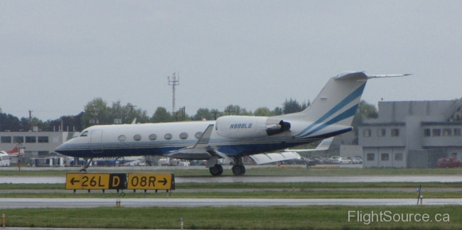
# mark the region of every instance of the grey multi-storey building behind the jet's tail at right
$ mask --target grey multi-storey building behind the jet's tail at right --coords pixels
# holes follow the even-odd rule
[[[379,116],[360,126],[365,168],[434,168],[462,157],[462,99],[379,102]]]

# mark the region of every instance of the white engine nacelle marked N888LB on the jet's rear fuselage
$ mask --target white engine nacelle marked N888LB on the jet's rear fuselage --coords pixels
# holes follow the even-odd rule
[[[291,124],[267,116],[222,116],[215,123],[218,135],[227,138],[259,138],[289,131]]]

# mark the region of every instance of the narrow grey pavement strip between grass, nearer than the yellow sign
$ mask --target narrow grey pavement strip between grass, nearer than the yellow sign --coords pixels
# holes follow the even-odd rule
[[[120,199],[122,207],[270,207],[270,206],[398,206],[417,205],[417,199]],[[462,199],[424,199],[425,205],[461,205]],[[116,207],[116,199],[0,198],[1,209]]]

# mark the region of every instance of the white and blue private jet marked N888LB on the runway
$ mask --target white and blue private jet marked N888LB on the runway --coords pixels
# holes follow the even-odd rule
[[[161,155],[207,160],[206,168],[214,176],[223,172],[217,160],[227,158],[235,163],[232,173],[244,175],[244,156],[292,148],[352,131],[351,122],[367,80],[407,75],[342,72],[328,80],[308,108],[294,114],[90,126],[58,146],[55,152],[86,158],[87,163],[81,172],[87,172],[92,158]]]

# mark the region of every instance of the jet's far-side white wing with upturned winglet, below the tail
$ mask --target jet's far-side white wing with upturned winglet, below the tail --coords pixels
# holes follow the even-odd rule
[[[314,151],[323,151],[328,150],[331,146],[333,137],[326,138],[321,143],[319,143],[318,147],[313,149],[284,149],[284,151],[276,152],[276,153],[260,153],[255,155],[249,155],[249,157],[254,160],[254,163],[257,165],[263,165],[267,163],[274,163],[283,160],[293,160],[297,158],[301,158],[299,153],[296,152],[314,152]]]

